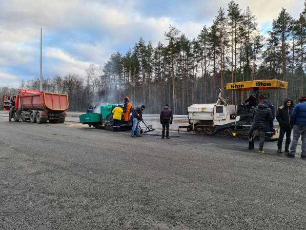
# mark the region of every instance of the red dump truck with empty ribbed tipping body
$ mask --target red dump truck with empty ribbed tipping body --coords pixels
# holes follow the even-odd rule
[[[64,123],[69,100],[67,94],[18,89],[16,95],[2,95],[1,106],[12,108],[15,122]]]

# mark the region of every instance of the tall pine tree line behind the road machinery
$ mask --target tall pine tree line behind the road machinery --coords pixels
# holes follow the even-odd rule
[[[173,25],[165,40],[153,46],[140,37],[125,54],[113,53],[104,66],[90,65],[85,78],[47,78],[43,88],[67,93],[70,110],[85,110],[90,103],[118,103],[129,95],[134,105],[145,104],[148,113],[158,113],[168,103],[175,114],[186,114],[191,104],[215,102],[217,89],[230,82],[288,81],[288,90],[264,92],[277,106],[283,98],[297,101],[305,92],[306,2],[297,18],[282,8],[265,37],[251,10],[231,1],[192,40]],[[22,87],[38,89],[39,81],[22,82]],[[231,103],[249,94],[222,92]]]

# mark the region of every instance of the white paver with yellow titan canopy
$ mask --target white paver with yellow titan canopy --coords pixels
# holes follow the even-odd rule
[[[257,100],[260,98],[259,90],[286,89],[288,83],[279,80],[255,80],[247,82],[229,83],[225,86],[226,90],[234,91],[253,91]],[[243,103],[229,105],[227,100],[221,97],[219,89],[218,100],[213,104],[193,104],[188,107],[188,126],[187,131],[195,131],[198,134],[216,135],[221,137],[246,137],[253,123],[254,107],[247,107]],[[278,137],[277,127],[273,128],[273,137]]]

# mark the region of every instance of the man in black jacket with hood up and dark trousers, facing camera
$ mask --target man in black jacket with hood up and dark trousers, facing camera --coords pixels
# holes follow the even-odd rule
[[[276,119],[280,127],[279,138],[277,142],[277,152],[279,154],[281,154],[281,146],[284,135],[286,135],[285,152],[289,151],[288,149],[291,142],[291,131],[293,128],[293,123],[291,120],[291,112],[293,107],[293,101],[289,98],[286,98],[283,102],[283,105],[278,108],[276,113]]]

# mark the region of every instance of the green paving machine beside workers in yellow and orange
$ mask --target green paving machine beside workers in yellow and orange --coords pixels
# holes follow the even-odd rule
[[[86,124],[89,127],[93,126],[95,128],[106,128],[106,129],[112,129],[113,127],[113,115],[112,111],[113,109],[118,106],[118,104],[109,104],[109,105],[103,105],[99,109],[96,108],[95,112],[87,112],[84,114],[81,114],[79,116],[79,122],[82,124]],[[134,108],[132,108],[131,111],[133,111]],[[120,128],[123,130],[132,129],[133,122],[121,122]]]

